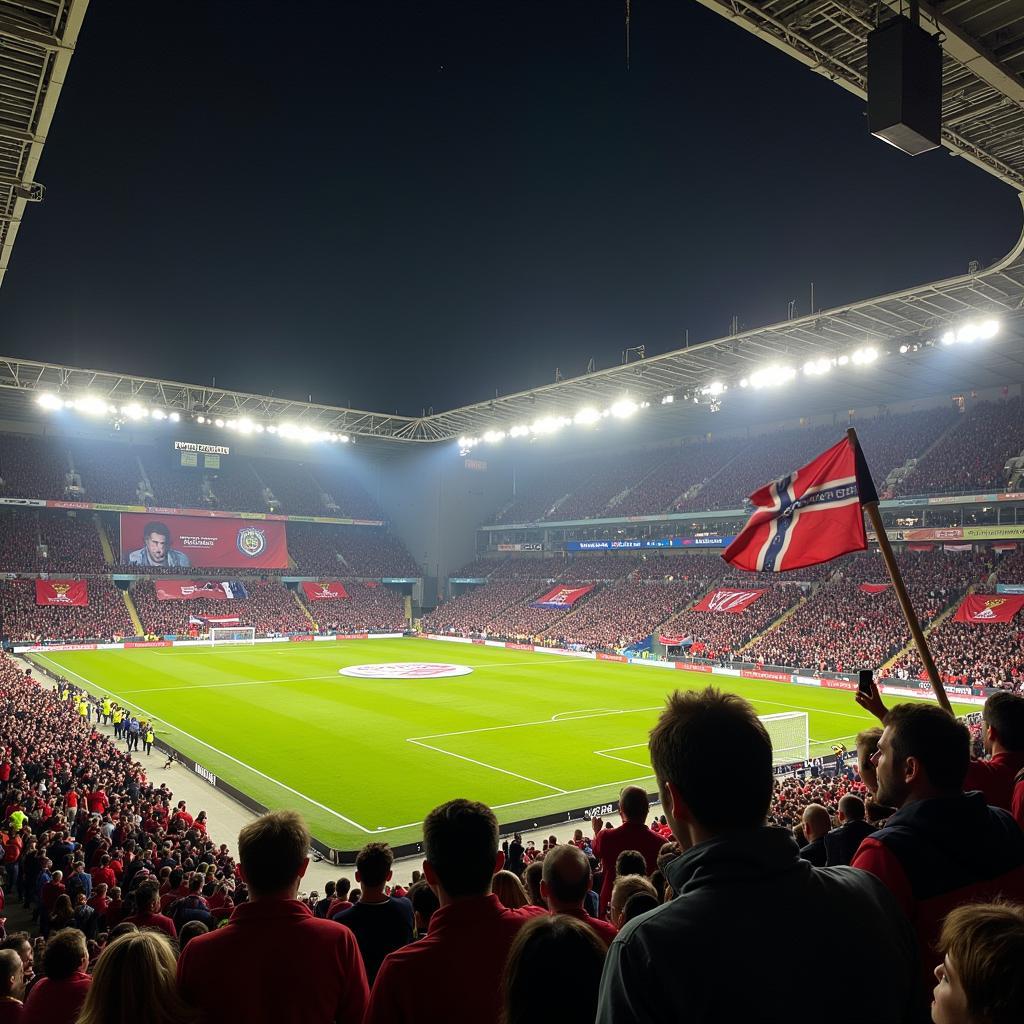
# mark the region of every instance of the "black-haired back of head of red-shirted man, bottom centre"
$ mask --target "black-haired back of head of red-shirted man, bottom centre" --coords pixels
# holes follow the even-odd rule
[[[450,800],[423,822],[423,871],[441,905],[467,896],[485,896],[505,857],[498,849],[498,819],[472,800]]]

